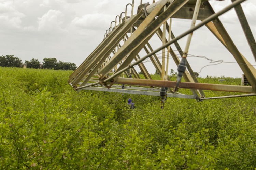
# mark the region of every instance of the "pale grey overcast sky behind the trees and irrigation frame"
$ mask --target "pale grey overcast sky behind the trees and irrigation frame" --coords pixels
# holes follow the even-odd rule
[[[23,62],[31,58],[57,58],[79,66],[103,40],[110,22],[125,11],[132,0],[0,0],[0,56],[14,55]],[[143,3],[150,2],[143,0]],[[209,1],[217,12],[230,4],[230,0]],[[140,0],[135,0],[134,14]],[[242,4],[251,30],[256,37],[256,1],[247,0]],[[131,7],[128,7],[130,14]],[[220,17],[240,52],[256,65],[244,37],[236,13],[230,11]],[[199,21],[197,22],[199,23]],[[189,29],[190,20],[173,19],[173,32],[177,36]],[[150,41],[155,48],[161,46],[157,38]],[[186,37],[179,41],[184,49]],[[140,54],[143,57],[143,54]],[[205,56],[212,60],[235,62],[231,54],[205,27],[193,34],[189,54]],[[195,72],[209,64],[209,60],[189,57]],[[215,64],[215,63],[211,63]],[[177,69],[173,61],[169,68]],[[136,67],[136,69],[139,68]],[[155,69],[149,69],[154,73]],[[221,63],[202,69],[201,76],[241,77],[238,64]]]

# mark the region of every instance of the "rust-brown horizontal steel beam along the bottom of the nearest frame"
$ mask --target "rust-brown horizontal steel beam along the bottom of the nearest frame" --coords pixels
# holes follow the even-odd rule
[[[118,84],[130,84],[130,85],[142,85],[142,86],[156,86],[156,87],[175,87],[176,81],[161,81],[161,80],[145,80],[145,79],[128,79],[118,78],[115,83]],[[205,84],[205,83],[190,83],[180,82],[179,88],[187,89],[201,89],[201,90],[213,90],[213,91],[230,91],[241,93],[255,93],[252,87],[248,86],[234,86],[234,85],[222,85],[222,84]]]

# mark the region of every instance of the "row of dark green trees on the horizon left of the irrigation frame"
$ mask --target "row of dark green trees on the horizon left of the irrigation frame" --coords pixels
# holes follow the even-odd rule
[[[56,58],[44,58],[43,63],[37,59],[32,58],[30,61],[22,60],[13,55],[0,56],[1,67],[24,67],[35,69],[54,69],[54,70],[75,70],[77,68],[75,63],[58,61]]]

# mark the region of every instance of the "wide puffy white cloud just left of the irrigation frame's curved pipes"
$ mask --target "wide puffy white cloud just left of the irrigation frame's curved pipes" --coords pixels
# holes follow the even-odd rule
[[[106,30],[110,27],[110,21],[113,19],[111,15],[105,14],[86,14],[82,18],[76,17],[72,24],[76,27],[89,30]]]

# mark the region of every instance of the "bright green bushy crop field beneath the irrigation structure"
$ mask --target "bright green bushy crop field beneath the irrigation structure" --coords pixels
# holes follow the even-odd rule
[[[162,110],[160,97],[78,93],[71,73],[0,67],[0,169],[256,168],[256,97],[168,98]],[[241,83],[199,82],[218,79]]]

